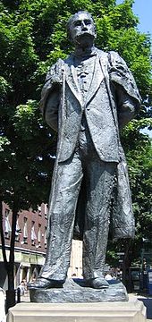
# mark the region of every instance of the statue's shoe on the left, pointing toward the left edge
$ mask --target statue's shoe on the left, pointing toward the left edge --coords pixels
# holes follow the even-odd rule
[[[49,288],[60,288],[63,287],[64,281],[49,280],[43,277],[38,277],[36,282],[29,282],[27,287],[31,289],[49,289]]]

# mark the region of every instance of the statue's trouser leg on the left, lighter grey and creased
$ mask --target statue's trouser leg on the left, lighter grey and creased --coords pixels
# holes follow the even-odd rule
[[[70,265],[75,208],[80,192],[82,169],[80,158],[57,165],[49,208],[46,263],[41,277],[65,280]]]

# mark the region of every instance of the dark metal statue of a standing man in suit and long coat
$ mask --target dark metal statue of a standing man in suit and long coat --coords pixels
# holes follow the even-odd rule
[[[115,52],[94,46],[96,27],[87,12],[68,21],[75,47],[46,75],[41,109],[58,132],[49,202],[46,263],[30,288],[62,287],[73,234],[83,240],[83,277],[93,288],[104,278],[109,222],[116,238],[134,235],[134,219],[120,129],[139,108],[139,92]]]

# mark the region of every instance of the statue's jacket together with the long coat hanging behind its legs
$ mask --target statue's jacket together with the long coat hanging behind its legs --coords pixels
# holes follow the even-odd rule
[[[44,116],[48,100],[52,99],[54,95],[56,97],[56,99],[52,99],[49,125],[56,131],[57,128],[59,129],[50,200],[53,202],[58,162],[63,162],[72,156],[84,112],[98,156],[102,161],[117,163],[114,198],[111,205],[113,238],[132,238],[134,236],[134,217],[131,207],[131,191],[119,128],[124,121],[125,123],[129,122],[133,117],[134,109],[139,108],[139,92],[135,80],[122,58],[115,52],[105,53],[97,49],[95,71],[84,106],[73,60],[74,55],[70,55],[65,61],[59,59],[47,73],[46,84],[42,89],[40,105]],[[103,81],[106,84],[106,97],[102,100]],[[126,100],[133,102],[133,111],[132,105],[125,104]],[[110,109],[109,115],[106,114],[106,116],[107,118],[111,117],[112,122],[108,122],[108,119],[105,120],[102,101],[106,101],[106,107]],[[94,122],[96,114],[97,122]],[[109,126],[112,123],[111,129]],[[75,237],[79,239],[83,234],[84,214],[85,187],[82,182],[74,230]]]

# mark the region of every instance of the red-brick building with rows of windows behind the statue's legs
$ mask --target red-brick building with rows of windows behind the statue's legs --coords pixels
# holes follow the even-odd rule
[[[9,257],[12,210],[3,203],[4,239],[7,258]],[[15,287],[21,280],[29,282],[37,277],[46,256],[47,207],[41,204],[37,212],[22,210],[18,213],[14,250]],[[82,243],[72,241],[71,266],[68,275],[81,277]],[[0,286],[7,289],[7,278],[0,243]]]

